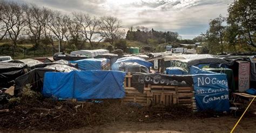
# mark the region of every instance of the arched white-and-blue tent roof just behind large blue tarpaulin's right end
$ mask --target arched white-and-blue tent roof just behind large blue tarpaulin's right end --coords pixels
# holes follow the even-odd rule
[[[123,58],[119,58],[113,65],[112,65],[112,70],[119,70],[119,64],[121,62],[136,62],[140,65],[144,65],[147,68],[152,67],[152,63],[145,61],[144,58],[140,58],[140,57],[136,57],[136,56],[129,56],[129,57],[123,57]]]

